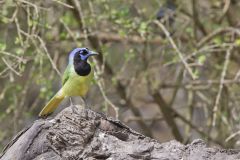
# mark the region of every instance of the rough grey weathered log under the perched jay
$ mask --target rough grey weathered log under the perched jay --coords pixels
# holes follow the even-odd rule
[[[160,143],[121,122],[71,106],[39,119],[6,146],[1,160],[43,159],[240,159],[239,150],[208,148],[202,140]]]

